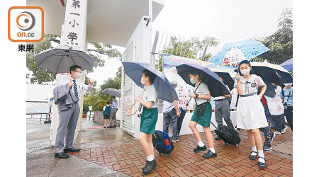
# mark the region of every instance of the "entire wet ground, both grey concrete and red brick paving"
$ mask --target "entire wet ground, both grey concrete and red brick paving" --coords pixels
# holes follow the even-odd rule
[[[142,176],[145,154],[137,139],[119,127],[101,127],[89,120],[83,121],[83,130],[74,142],[81,152],[69,153],[69,159],[54,157],[50,146],[50,125],[27,121],[27,176]],[[213,132],[214,136],[215,133]],[[201,133],[203,139],[205,135]],[[216,142],[218,157],[203,159],[203,153],[194,153],[194,135],[181,136],[174,143],[171,156],[155,152],[157,167],[147,176],[292,176],[292,132],[277,135],[273,150],[265,152],[267,169],[259,170],[257,161],[250,161],[247,134],[240,130],[240,147]],[[206,140],[203,141],[208,144]]]

